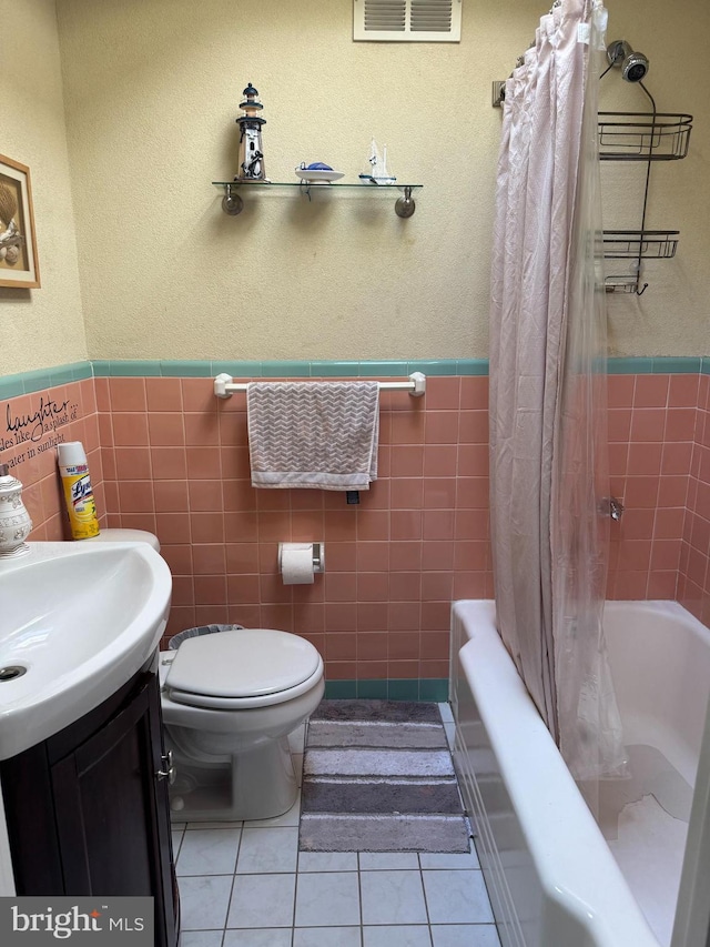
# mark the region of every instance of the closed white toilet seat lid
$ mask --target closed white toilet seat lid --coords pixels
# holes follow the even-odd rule
[[[315,647],[298,635],[236,628],[184,641],[165,686],[212,697],[257,697],[296,687],[320,663]]]

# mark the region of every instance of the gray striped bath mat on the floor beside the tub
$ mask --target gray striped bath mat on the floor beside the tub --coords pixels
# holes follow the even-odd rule
[[[436,704],[322,701],[303,763],[302,852],[468,852]]]

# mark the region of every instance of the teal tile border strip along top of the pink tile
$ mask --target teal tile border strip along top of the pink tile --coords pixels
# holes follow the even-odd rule
[[[0,376],[0,397],[17,397],[36,391],[94,377],[214,377],[226,372],[233,379],[277,377],[398,377],[412,372],[429,376],[488,375],[487,359],[420,359],[368,361],[252,361],[252,360],[151,360],[98,359],[51,369]],[[639,356],[607,360],[610,375],[703,374],[710,375],[710,355]]]

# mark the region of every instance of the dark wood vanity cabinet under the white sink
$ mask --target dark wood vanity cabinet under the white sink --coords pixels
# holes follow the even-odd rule
[[[0,763],[18,895],[154,898],[176,947],[160,689],[150,667],[74,724]]]

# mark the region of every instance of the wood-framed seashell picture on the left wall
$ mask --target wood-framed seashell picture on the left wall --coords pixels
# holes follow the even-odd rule
[[[30,169],[0,154],[0,286],[39,285]]]

